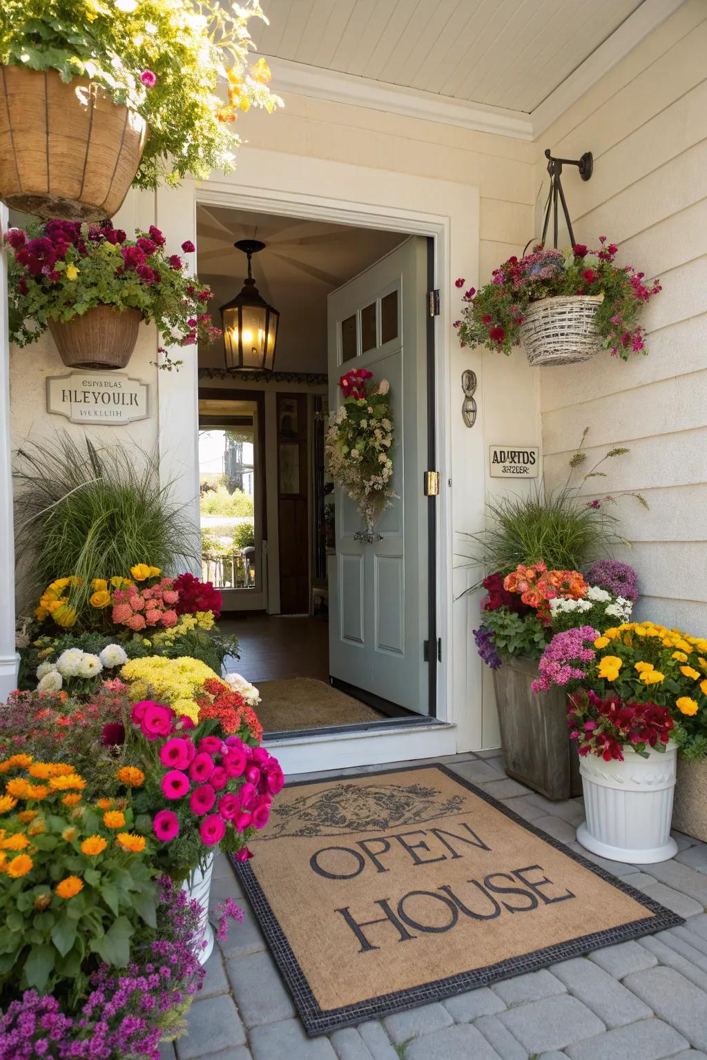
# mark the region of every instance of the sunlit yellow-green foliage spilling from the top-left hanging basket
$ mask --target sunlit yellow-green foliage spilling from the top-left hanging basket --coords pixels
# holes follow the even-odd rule
[[[216,0],[4,0],[0,12],[0,64],[57,70],[65,82],[89,77],[144,118],[141,188],[228,172],[240,143],[236,109],[282,105],[267,88],[267,67],[248,69],[248,20],[264,19],[258,0],[233,7]],[[217,98],[224,67],[226,107]],[[142,82],[145,71],[155,74],[153,87]]]

